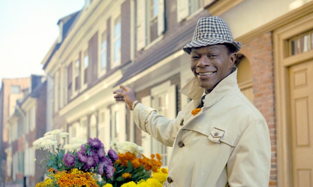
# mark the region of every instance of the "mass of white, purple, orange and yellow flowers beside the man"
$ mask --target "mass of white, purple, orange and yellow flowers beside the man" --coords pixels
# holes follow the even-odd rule
[[[43,153],[40,166],[45,165],[48,177],[36,187],[162,186],[166,180],[167,170],[160,169],[159,154],[147,158],[142,147],[128,141],[112,141],[113,149],[106,153],[98,138],[72,138],[70,144],[64,144],[68,135],[57,129],[33,142],[34,149]]]

